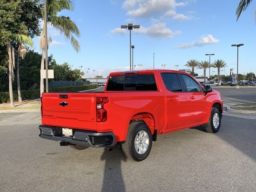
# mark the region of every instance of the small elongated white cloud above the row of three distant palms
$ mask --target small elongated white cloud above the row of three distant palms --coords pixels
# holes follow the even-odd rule
[[[212,35],[208,34],[207,36],[201,36],[198,39],[198,41],[178,44],[175,46],[175,48],[184,49],[184,48],[190,48],[190,47],[194,47],[194,46],[201,47],[201,46],[205,46],[208,44],[216,44],[218,42],[220,42],[219,39],[216,39]]]

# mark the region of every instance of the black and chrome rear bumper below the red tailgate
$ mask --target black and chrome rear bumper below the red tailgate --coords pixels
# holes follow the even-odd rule
[[[74,145],[89,147],[111,147],[116,144],[116,136],[113,132],[92,132],[73,129],[73,136],[62,136],[62,128],[40,125],[39,136],[44,139],[65,141]]]

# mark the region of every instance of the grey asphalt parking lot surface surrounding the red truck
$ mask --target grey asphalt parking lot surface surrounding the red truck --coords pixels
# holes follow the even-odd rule
[[[255,102],[255,88],[214,89],[224,104]],[[196,127],[158,136],[142,162],[118,146],[78,151],[41,139],[39,124],[40,112],[0,114],[1,192],[256,191],[255,115],[226,112],[216,134]]]

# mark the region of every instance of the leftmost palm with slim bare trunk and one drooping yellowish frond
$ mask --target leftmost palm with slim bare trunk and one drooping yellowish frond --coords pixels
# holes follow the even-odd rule
[[[12,34],[12,41],[17,42],[18,44],[28,44],[33,46],[33,41],[26,35],[23,34]],[[13,93],[12,93],[12,82],[14,80],[14,66],[15,66],[15,54],[13,42],[8,42],[6,44],[8,57],[9,57],[9,94],[10,94],[10,103],[11,107],[14,107]]]

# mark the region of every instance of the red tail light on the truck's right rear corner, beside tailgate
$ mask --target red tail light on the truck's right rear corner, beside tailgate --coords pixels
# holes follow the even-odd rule
[[[96,116],[97,122],[107,121],[107,111],[104,109],[104,104],[108,103],[107,97],[97,97],[96,98]]]

